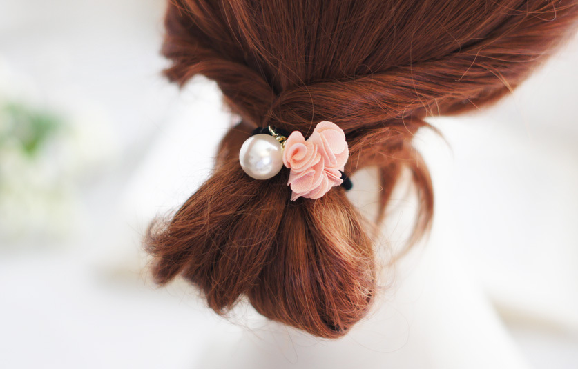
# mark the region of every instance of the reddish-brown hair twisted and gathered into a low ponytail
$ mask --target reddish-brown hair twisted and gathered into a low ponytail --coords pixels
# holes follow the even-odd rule
[[[251,179],[238,152],[253,128],[307,137],[345,131],[347,174],[380,170],[380,217],[403,168],[416,185],[415,241],[431,223],[432,184],[412,137],[430,115],[496,101],[528,77],[578,17],[575,0],[171,0],[165,71],[218,83],[242,122],[212,176],[146,246],[157,283],[194,283],[227,312],[242,295],[262,315],[335,338],[376,293],[372,223],[340,187],[290,201],[288,173]],[[202,122],[210,124],[211,122]]]

